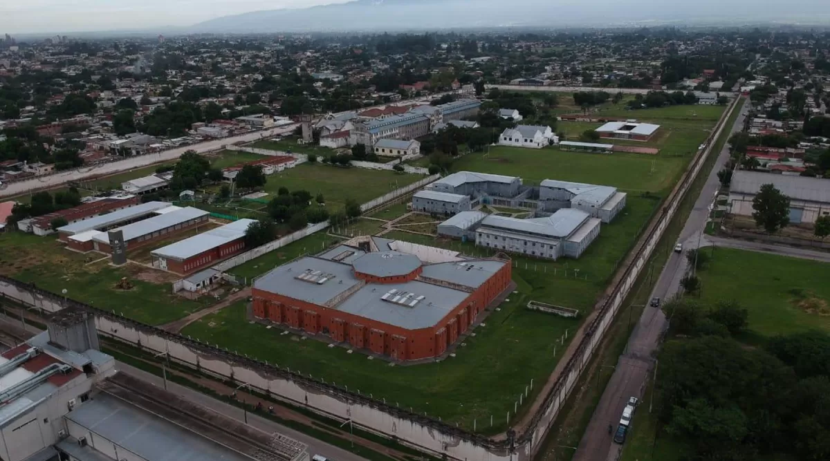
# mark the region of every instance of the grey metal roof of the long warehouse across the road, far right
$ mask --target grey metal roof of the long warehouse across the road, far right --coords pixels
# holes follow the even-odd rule
[[[830,203],[830,180],[821,177],[785,176],[739,170],[732,176],[730,191],[755,195],[764,184],[772,184],[793,200]]]

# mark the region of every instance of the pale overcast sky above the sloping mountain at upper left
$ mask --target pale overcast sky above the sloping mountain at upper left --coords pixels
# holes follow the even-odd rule
[[[348,0],[0,0],[0,34],[189,26],[214,17]]]

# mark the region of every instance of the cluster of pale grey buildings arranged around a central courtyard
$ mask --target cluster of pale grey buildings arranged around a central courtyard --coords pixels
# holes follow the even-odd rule
[[[521,178],[457,172],[413,195],[412,209],[448,216],[438,234],[505,252],[557,260],[579,258],[626,205],[627,194],[616,187],[544,180],[525,187]],[[488,215],[483,206],[527,210],[519,219]]]

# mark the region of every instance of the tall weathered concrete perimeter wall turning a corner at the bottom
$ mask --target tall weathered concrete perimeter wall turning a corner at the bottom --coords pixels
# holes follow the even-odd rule
[[[730,110],[735,110],[736,105],[736,103],[733,104]],[[579,380],[580,373],[584,366],[588,364],[603,337],[603,333],[613,321],[639,274],[647,267],[647,261],[657,248],[663,233],[671,222],[671,218],[679,208],[681,199],[703,167],[711,146],[714,144],[712,141],[725,128],[725,120],[729,118],[729,114],[730,111],[724,114],[719,128],[715,130],[716,133],[713,133],[707,140],[707,145],[710,147],[697,153],[691,167],[684,173],[681,182],[671,192],[660,215],[648,226],[645,235],[638,241],[636,250],[627,258],[625,269],[615,278],[613,288],[608,290],[608,296],[598,306],[598,314],[583,329],[583,335],[579,339],[574,352],[569,355],[563,371],[554,382],[554,386],[544,394],[540,410],[537,410],[530,417],[528,423],[520,424],[523,427],[517,428],[515,433],[510,431],[506,438],[489,439],[479,434],[473,434],[464,429],[447,425],[440,420],[434,420],[428,417],[426,413],[419,415],[414,413],[412,409],[400,408],[398,405],[393,405],[393,402],[381,400],[382,398],[379,396],[374,398],[373,395],[361,395],[359,392],[349,391],[349,389],[336,386],[334,383],[329,384],[311,376],[302,376],[288,368],[280,368],[278,364],[256,362],[247,356],[243,357],[234,352],[193,341],[189,337],[165,332],[159,328],[117,316],[115,313],[77,303],[71,299],[63,298],[61,295],[38,289],[32,284],[25,284],[0,276],[0,292],[16,299],[18,302],[41,308],[47,312],[55,312],[67,306],[83,308],[95,314],[95,325],[99,332],[105,336],[148,349],[154,353],[165,353],[173,361],[191,366],[212,376],[247,384],[256,391],[276,400],[290,402],[292,405],[300,405],[317,414],[337,420],[353,421],[355,425],[369,432],[396,439],[400,443],[413,446],[427,453],[439,456],[446,455],[448,459],[458,460],[530,461],[540,448],[544,436],[547,434],[549,426],[558,414],[559,409]],[[437,177],[427,177],[422,182],[434,181],[435,179]],[[404,189],[417,187],[421,187],[421,185],[416,183]],[[403,193],[406,192],[390,192],[387,196],[399,197]],[[381,197],[381,199],[384,197]],[[385,203],[381,199],[375,200],[378,205]],[[386,199],[386,201],[388,200],[390,199]],[[364,204],[364,206],[367,205],[369,204]],[[272,242],[272,244],[276,245],[276,242]],[[275,246],[275,249],[278,247]],[[262,250],[261,254],[266,252]],[[246,258],[247,256],[237,256],[237,258],[240,257]],[[251,257],[247,258],[247,260],[252,259]],[[241,264],[241,262],[237,264]]]

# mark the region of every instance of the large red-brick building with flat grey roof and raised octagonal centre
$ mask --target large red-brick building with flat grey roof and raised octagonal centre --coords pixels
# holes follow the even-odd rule
[[[253,315],[394,361],[439,357],[510,289],[510,267],[340,245],[256,279]]]

